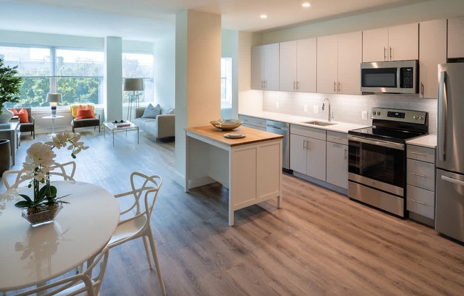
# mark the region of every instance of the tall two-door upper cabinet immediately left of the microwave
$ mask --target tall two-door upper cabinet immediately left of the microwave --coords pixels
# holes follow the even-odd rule
[[[317,93],[359,95],[362,33],[317,38]]]

